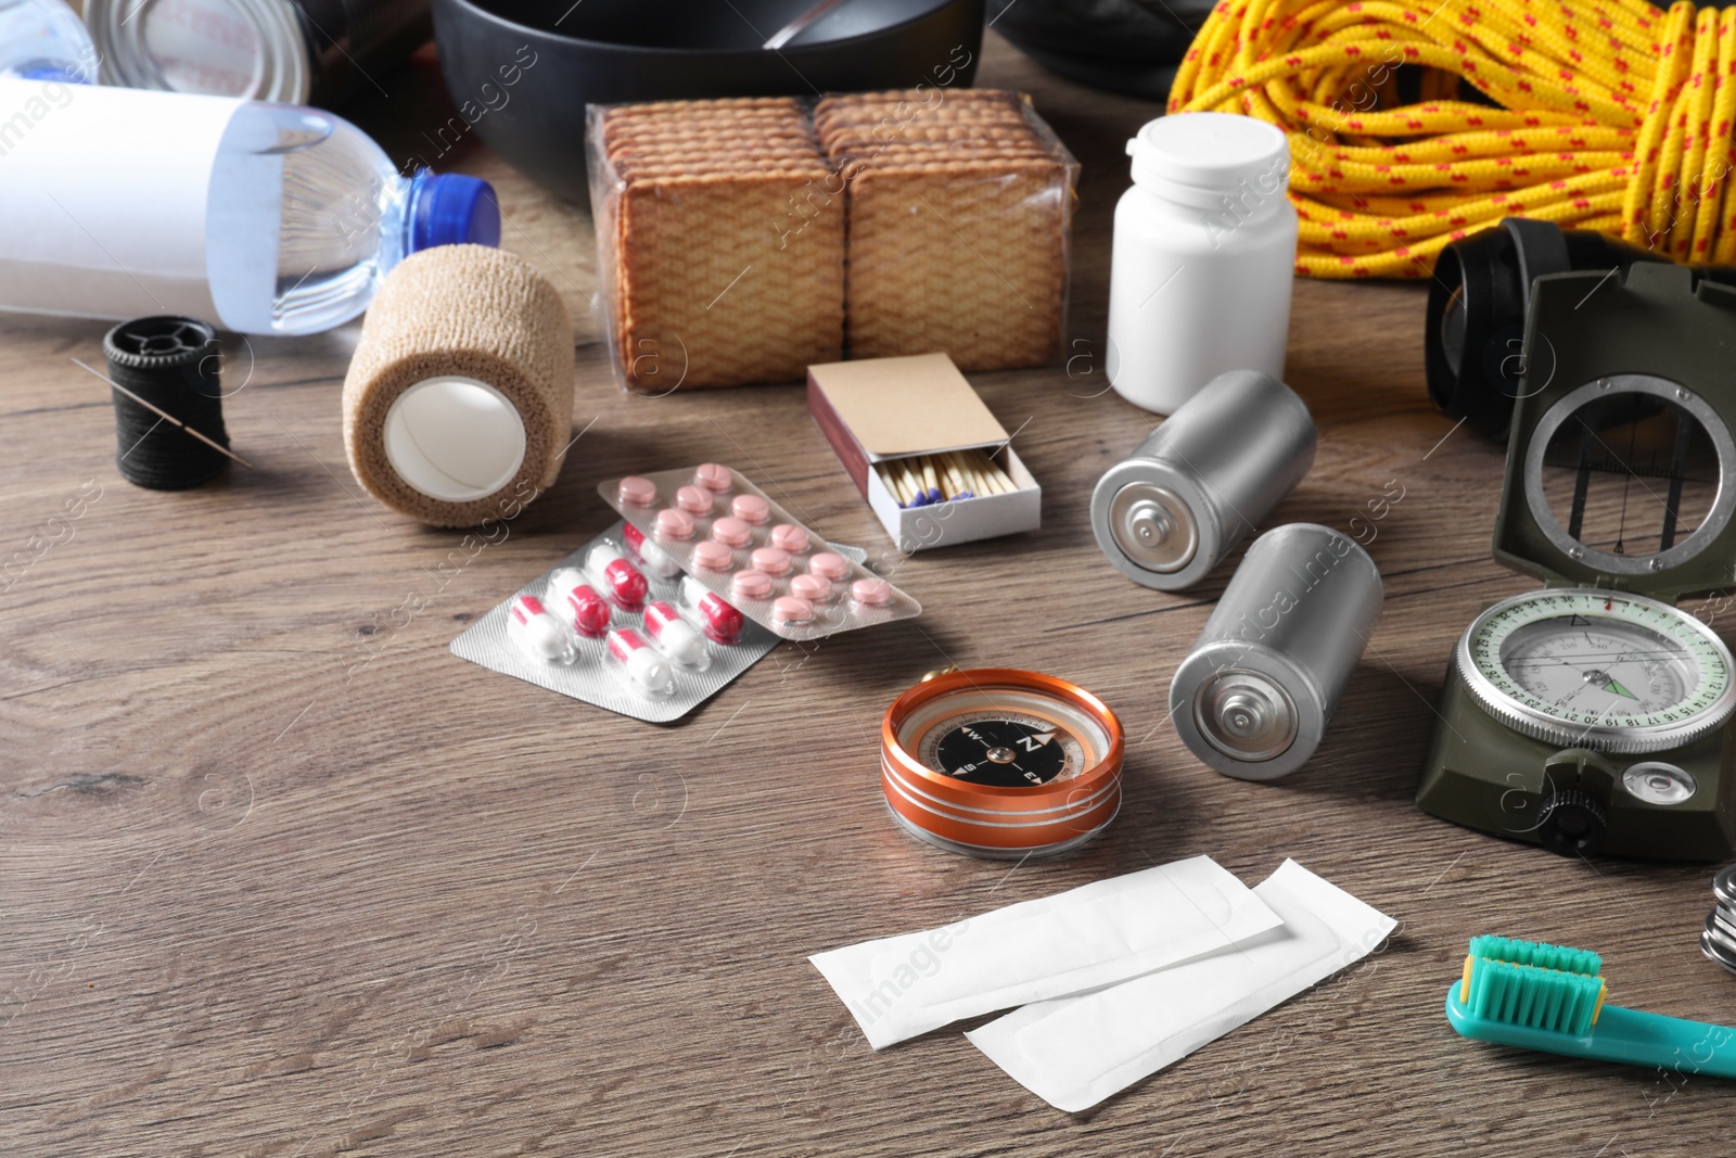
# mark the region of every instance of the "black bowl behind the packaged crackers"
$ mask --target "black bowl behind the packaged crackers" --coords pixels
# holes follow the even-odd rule
[[[590,102],[965,87],[983,3],[840,0],[773,50],[821,0],[434,0],[434,38],[465,123],[583,201]]]

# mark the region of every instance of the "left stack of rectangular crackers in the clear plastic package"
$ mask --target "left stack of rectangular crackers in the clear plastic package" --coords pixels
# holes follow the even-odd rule
[[[844,203],[795,99],[592,104],[606,332],[623,385],[793,382],[844,354]],[[840,191],[837,191],[840,193]],[[811,208],[790,227],[797,205]]]

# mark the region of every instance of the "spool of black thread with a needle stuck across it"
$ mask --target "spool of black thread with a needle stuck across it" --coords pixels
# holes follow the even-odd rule
[[[222,358],[217,332],[193,318],[135,318],[102,339],[109,380],[160,406],[219,446]],[[123,479],[155,491],[181,491],[217,477],[229,458],[120,391],[115,399],[115,465]]]

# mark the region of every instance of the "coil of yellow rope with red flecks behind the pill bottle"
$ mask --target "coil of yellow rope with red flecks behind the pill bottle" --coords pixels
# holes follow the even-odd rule
[[[1736,262],[1733,73],[1736,9],[1689,0],[1224,0],[1168,108],[1285,130],[1302,274],[1422,278],[1502,217]]]

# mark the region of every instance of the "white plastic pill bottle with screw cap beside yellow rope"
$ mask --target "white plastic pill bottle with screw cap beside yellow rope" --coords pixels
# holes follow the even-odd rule
[[[1252,116],[1174,113],[1146,123],[1127,153],[1109,382],[1161,415],[1227,370],[1281,382],[1297,248],[1285,134]]]

